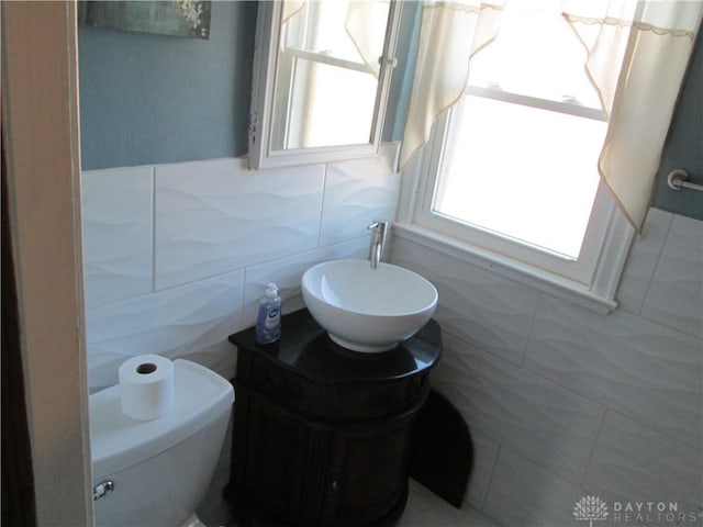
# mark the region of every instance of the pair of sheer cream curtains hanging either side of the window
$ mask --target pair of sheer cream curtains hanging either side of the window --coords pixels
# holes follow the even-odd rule
[[[401,167],[434,120],[462,96],[471,57],[499,34],[507,2],[426,1]],[[553,0],[584,47],[584,75],[610,117],[602,180],[639,228],[695,34],[703,0]]]

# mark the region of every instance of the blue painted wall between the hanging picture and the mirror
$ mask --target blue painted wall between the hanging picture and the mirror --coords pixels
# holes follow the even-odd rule
[[[80,25],[83,169],[247,150],[256,2],[213,2],[209,41]]]

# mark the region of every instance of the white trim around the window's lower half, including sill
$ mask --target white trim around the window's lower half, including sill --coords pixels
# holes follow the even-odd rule
[[[614,311],[617,307],[615,300],[617,285],[634,239],[635,229],[612,203],[612,200],[596,201],[599,206],[604,206],[598,212],[599,216],[604,220],[603,231],[598,236],[600,250],[598,259],[592,262],[592,274],[590,280],[583,282],[469,244],[458,237],[445,234],[446,229],[440,232],[436,226],[432,228],[433,222],[426,222],[427,200],[431,199],[434,191],[434,178],[439,164],[438,156],[442,153],[447,119],[447,113],[437,119],[427,145],[417,152],[405,167],[393,233],[401,238],[438,250],[467,264],[498,272],[509,279],[599,313],[606,314]],[[599,192],[605,192],[605,190],[601,188]]]

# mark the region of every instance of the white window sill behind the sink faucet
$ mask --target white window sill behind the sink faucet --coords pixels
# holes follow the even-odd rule
[[[393,234],[591,311],[607,314],[617,309],[617,301],[594,293],[583,283],[471,246],[429,228],[411,223],[394,223]]]

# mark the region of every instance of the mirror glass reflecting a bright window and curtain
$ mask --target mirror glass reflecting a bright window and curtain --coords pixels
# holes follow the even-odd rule
[[[293,2],[293,7],[297,4]],[[361,9],[364,8],[364,9]],[[390,2],[301,2],[282,25],[280,90],[275,119],[283,148],[367,143],[376,112]],[[364,31],[354,31],[362,12]],[[358,33],[358,34],[357,34]],[[366,55],[373,54],[369,61]],[[354,101],[355,104],[341,103]],[[339,125],[344,123],[344,125]]]

